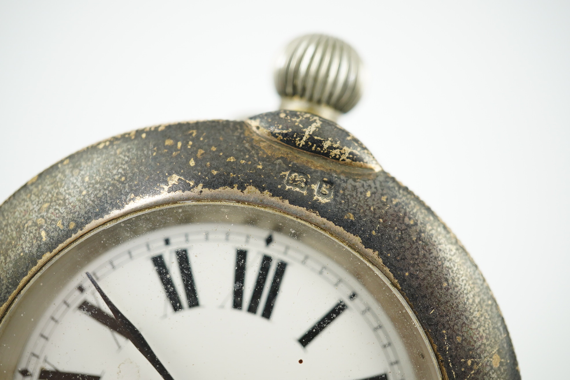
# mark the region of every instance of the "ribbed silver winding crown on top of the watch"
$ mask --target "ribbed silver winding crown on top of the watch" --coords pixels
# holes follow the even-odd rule
[[[361,60],[340,39],[304,35],[292,40],[279,59],[275,86],[284,104],[305,101],[348,112],[360,99]]]

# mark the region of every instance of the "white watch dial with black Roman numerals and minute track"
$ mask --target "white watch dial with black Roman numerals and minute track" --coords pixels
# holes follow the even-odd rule
[[[175,224],[99,250],[36,312],[13,378],[417,378],[377,297],[280,226]]]

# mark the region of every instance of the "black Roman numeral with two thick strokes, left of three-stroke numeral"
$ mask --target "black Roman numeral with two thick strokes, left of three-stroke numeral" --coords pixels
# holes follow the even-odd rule
[[[177,250],[176,260],[178,261],[178,268],[180,269],[182,283],[184,284],[184,291],[186,293],[186,301],[188,301],[188,307],[193,308],[195,306],[198,306],[198,293],[196,292],[196,284],[194,284],[192,268],[190,268],[188,251]],[[183,307],[182,302],[180,301],[180,296],[178,296],[176,287],[174,287],[174,282],[172,281],[170,271],[166,267],[164,257],[162,255],[153,256],[152,263],[154,264],[154,269],[156,269],[156,273],[158,274],[162,288],[164,288],[166,298],[170,302],[170,305],[172,305],[172,309],[175,312],[182,310]]]

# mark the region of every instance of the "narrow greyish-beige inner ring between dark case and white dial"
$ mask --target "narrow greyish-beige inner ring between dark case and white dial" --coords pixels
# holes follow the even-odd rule
[[[212,222],[263,226],[269,231],[281,233],[293,231],[288,236],[341,265],[382,305],[400,335],[417,379],[441,378],[437,359],[420,322],[388,278],[369,260],[314,224],[270,207],[229,201],[187,201],[139,210],[109,220],[64,248],[28,281],[0,322],[3,369],[11,373],[17,370],[15,365],[27,341],[22,339],[22,335],[30,336],[44,310],[59,294],[54,289],[64,287],[82,271],[80,265],[87,265],[104,252],[149,232],[181,224]],[[323,244],[323,238],[327,244]],[[19,318],[19,314],[26,318]],[[14,367],[10,367],[10,364]]]

